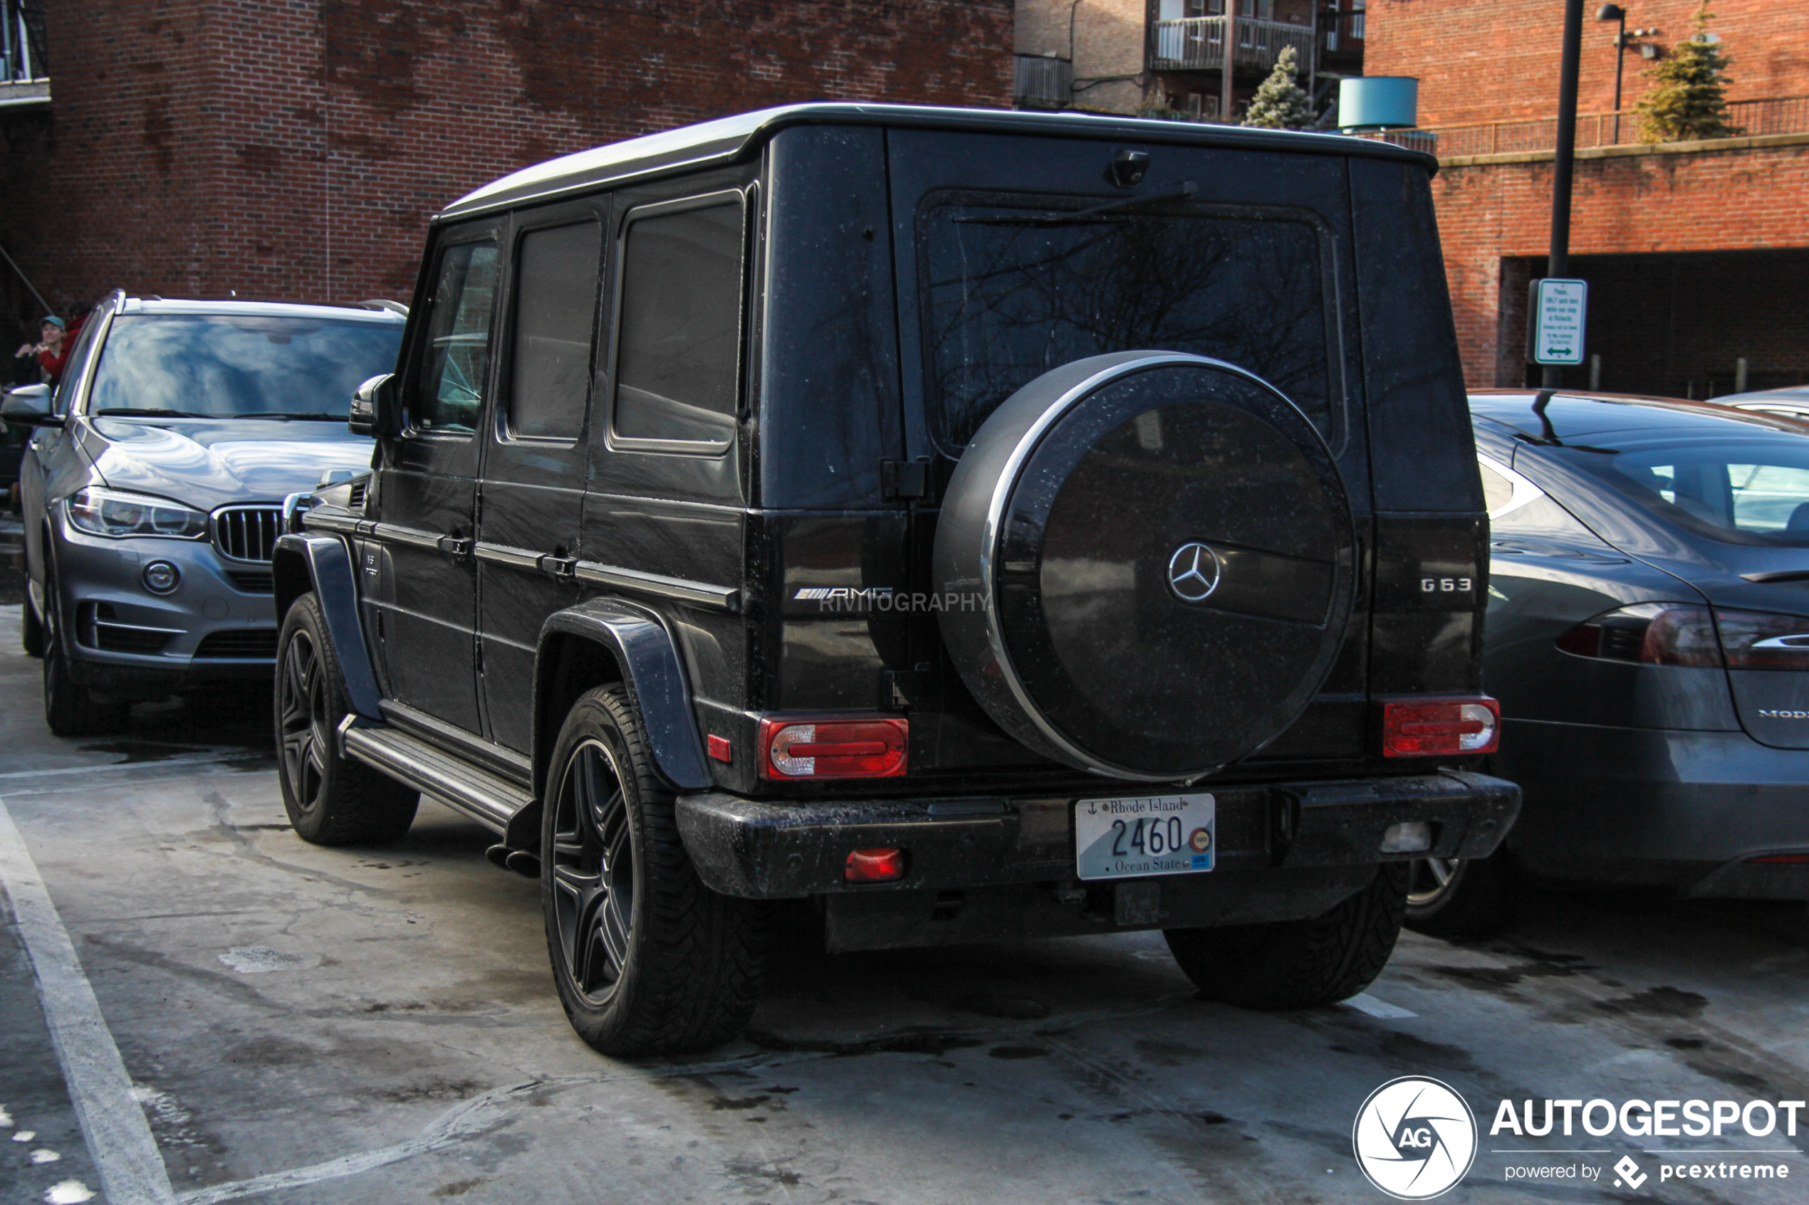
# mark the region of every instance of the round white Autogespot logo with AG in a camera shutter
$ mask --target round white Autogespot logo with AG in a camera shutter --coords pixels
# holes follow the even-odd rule
[[[1476,1116],[1451,1086],[1402,1075],[1357,1109],[1351,1147],[1369,1183],[1402,1201],[1424,1201],[1469,1174]]]

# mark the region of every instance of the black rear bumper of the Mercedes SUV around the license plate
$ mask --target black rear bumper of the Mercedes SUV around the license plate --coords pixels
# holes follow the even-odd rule
[[[1091,793],[1156,795],[1158,791]],[[1389,826],[1433,827],[1431,855],[1487,856],[1520,811],[1520,788],[1478,773],[1234,786],[1217,799],[1217,867],[1170,880],[1284,880],[1353,867],[1366,882]],[[725,793],[678,799],[678,831],[704,882],[722,894],[785,900],[816,894],[1073,885],[1076,797],[771,802]],[[895,845],[908,871],[897,883],[843,882],[854,849]],[[1321,874],[1321,878],[1326,878]],[[1340,880],[1333,874],[1328,882]],[[1158,880],[1114,880],[1158,882]],[[1348,894],[1348,892],[1344,892]],[[1335,901],[1335,900],[1333,900]],[[1322,909],[1301,912],[1315,914]]]

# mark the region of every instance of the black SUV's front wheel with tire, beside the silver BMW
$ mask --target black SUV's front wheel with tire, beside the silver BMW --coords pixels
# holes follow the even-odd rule
[[[271,710],[282,808],[297,836],[315,845],[365,845],[409,831],[420,793],[335,753],[333,733],[351,708],[313,594],[297,598],[282,620]]]

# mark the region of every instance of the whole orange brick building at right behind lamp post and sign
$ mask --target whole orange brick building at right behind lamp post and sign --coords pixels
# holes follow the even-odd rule
[[[1632,45],[1614,114],[1614,23],[1583,29],[1570,273],[1590,282],[1601,388],[1706,397],[1809,381],[1809,5],[1717,0],[1731,121],[1746,137],[1639,143],[1652,60],[1697,0],[1624,0]],[[1563,5],[1377,0],[1366,70],[1418,76],[1438,134],[1438,226],[1471,385],[1520,385],[1527,280],[1545,273]],[[1652,51],[1641,51],[1652,47]],[[1744,361],[1744,370],[1742,370]],[[1590,381],[1592,367],[1565,383]],[[1744,381],[1742,381],[1744,378]]]

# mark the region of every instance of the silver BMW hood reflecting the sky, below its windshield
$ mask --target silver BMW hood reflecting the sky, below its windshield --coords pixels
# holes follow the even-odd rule
[[[329,468],[362,473],[373,441],[317,421],[92,419],[81,446],[101,482],[212,511],[233,502],[280,502],[313,490]]]

